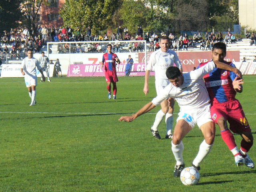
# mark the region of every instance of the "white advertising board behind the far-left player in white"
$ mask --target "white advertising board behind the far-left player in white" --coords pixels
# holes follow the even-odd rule
[[[49,76],[52,77],[54,70],[54,65],[50,65],[49,69]],[[36,75],[38,77],[41,76],[41,73],[36,70]],[[20,72],[20,64],[2,64],[2,77],[23,77],[23,75]],[[46,72],[44,71],[44,76],[47,77]]]

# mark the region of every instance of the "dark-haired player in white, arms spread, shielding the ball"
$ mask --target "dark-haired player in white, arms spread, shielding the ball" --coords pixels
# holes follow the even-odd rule
[[[170,80],[170,84],[164,90],[137,113],[132,116],[123,116],[119,121],[131,122],[138,116],[149,112],[156,105],[159,105],[166,97],[175,98],[180,106],[180,112],[177,118],[177,124],[174,129],[172,138],[172,152],[176,159],[174,176],[179,177],[180,172],[184,169],[185,164],[182,156],[184,145],[182,139],[192,130],[195,124],[198,125],[204,141],[200,144],[199,152],[192,162],[197,170],[200,170],[200,162],[210,152],[215,136],[215,125],[212,122],[210,114],[210,98],[204,84],[203,76],[212,71],[215,67],[230,70],[242,77],[241,72],[237,68],[233,68],[222,62],[208,62],[201,68],[191,71],[187,74],[181,74],[177,67],[171,66],[166,70],[166,76]]]

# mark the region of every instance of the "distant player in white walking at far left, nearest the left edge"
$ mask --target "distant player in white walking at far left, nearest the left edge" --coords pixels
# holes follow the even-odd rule
[[[33,57],[32,50],[28,50],[27,54],[28,56],[22,60],[20,71],[24,76],[26,87],[28,88],[28,93],[31,98],[30,106],[33,106],[36,103],[36,86],[37,86],[36,67],[42,74],[42,78],[44,81],[45,81],[45,77],[38,60]]]

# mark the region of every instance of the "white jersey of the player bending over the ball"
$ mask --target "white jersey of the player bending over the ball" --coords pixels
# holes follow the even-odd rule
[[[210,104],[210,98],[204,83],[203,76],[211,72],[215,68],[214,62],[183,74],[184,83],[180,87],[175,87],[171,83],[156,98],[152,100],[155,105],[166,99],[166,97],[174,98],[180,110],[195,110]]]

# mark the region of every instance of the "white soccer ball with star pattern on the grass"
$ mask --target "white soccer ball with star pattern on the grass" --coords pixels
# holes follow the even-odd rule
[[[200,174],[194,167],[186,167],[180,173],[180,180],[184,185],[196,185],[200,180]]]

